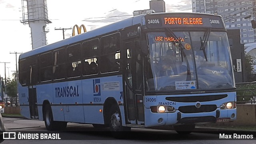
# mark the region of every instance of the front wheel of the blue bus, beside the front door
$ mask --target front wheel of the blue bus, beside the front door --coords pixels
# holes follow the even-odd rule
[[[126,134],[124,131],[131,131],[130,127],[122,126],[122,118],[119,107],[117,105],[113,105],[110,108],[110,122],[109,127],[114,138],[124,138]]]

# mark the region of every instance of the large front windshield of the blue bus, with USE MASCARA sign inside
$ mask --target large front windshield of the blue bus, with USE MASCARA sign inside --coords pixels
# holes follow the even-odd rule
[[[226,32],[149,32],[149,91],[234,88]]]

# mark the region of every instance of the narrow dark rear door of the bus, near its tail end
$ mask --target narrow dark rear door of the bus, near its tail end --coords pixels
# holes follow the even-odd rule
[[[30,109],[30,118],[38,119],[38,108],[37,108],[37,98],[36,98],[36,68],[35,66],[30,66],[30,84],[28,86],[28,102]]]

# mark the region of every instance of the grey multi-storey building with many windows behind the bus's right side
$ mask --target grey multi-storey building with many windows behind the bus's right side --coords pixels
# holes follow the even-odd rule
[[[219,14],[227,29],[240,29],[240,43],[256,42],[256,32],[251,20],[255,20],[256,0],[192,0],[193,12]]]

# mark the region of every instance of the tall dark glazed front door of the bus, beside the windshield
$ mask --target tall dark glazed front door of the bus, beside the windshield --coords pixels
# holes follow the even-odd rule
[[[125,43],[126,124],[144,125],[143,60],[135,43],[135,40]]]

